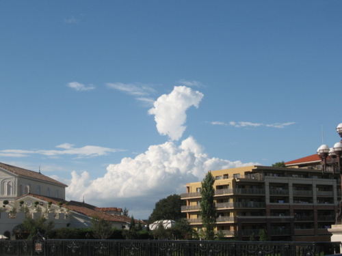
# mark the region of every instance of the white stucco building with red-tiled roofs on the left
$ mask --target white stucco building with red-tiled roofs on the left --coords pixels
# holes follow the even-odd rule
[[[66,187],[40,172],[0,162],[0,208],[5,211],[0,213],[0,234],[16,239],[25,218],[25,213],[19,211],[21,207],[29,210],[33,218],[46,214],[48,221],[54,221],[55,229],[90,227],[92,216],[104,218],[118,229],[129,227],[131,218],[122,216],[121,208],[97,208],[84,202],[66,201]],[[3,201],[9,201],[5,208],[1,207]],[[12,213],[14,208],[17,214]]]

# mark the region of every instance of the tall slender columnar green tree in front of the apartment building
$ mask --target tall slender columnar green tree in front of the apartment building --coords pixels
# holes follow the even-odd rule
[[[214,182],[215,178],[211,172],[208,171],[207,175],[205,175],[204,179],[202,180],[202,187],[200,190],[200,195],[202,195],[202,200],[200,201],[200,215],[202,217],[203,227],[205,227],[206,240],[214,240],[214,229],[216,226],[216,218],[218,218],[214,201]]]

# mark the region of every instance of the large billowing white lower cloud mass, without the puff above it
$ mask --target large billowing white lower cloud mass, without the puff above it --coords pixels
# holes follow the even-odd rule
[[[184,185],[202,180],[207,171],[250,165],[259,163],[211,158],[193,137],[189,137],[179,146],[172,141],[151,145],[144,154],[109,165],[107,173],[95,180],[90,180],[86,171],[80,175],[74,171],[67,194],[75,200],[85,196],[87,202],[95,205],[101,202],[108,205],[115,199],[116,205],[122,202],[129,209],[141,198],[144,203],[140,203],[140,210],[153,209],[158,199],[185,193]],[[148,199],[152,205],[144,205]]]

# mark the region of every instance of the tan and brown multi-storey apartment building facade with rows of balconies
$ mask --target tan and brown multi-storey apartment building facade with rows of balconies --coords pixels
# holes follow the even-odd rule
[[[341,200],[339,173],[322,175],[319,166],[250,166],[211,171],[215,177],[217,231],[250,240],[265,229],[272,241],[330,241]],[[195,229],[200,218],[201,183],[186,184],[182,212]]]

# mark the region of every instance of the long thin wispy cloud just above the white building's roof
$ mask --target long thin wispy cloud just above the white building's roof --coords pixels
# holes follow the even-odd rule
[[[56,157],[62,155],[74,155],[77,158],[89,158],[94,156],[106,156],[114,152],[121,152],[126,150],[112,149],[109,147],[98,147],[86,145],[84,147],[74,147],[75,145],[64,143],[56,147],[62,150],[0,150],[0,156],[8,157],[24,157],[31,156],[32,154],[41,154],[49,157]]]

